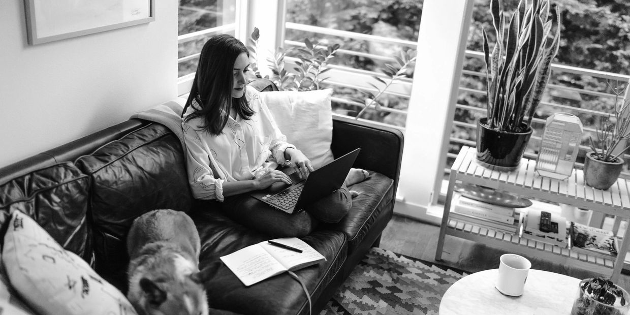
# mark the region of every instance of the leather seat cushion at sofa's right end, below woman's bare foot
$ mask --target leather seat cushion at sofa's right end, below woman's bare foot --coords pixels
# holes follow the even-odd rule
[[[348,187],[360,195],[352,198],[352,209],[340,222],[326,224],[321,228],[343,231],[348,237],[348,252],[352,253],[365,234],[372,228],[382,211],[391,209],[394,181],[380,173],[368,171],[368,178]],[[391,211],[391,210],[390,210]]]

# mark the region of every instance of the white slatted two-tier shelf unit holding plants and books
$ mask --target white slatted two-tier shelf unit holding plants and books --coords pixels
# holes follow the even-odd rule
[[[523,197],[533,197],[548,202],[566,203],[578,208],[591,209],[604,214],[613,215],[615,223],[613,232],[617,234],[619,222],[630,219],[630,183],[619,178],[608,190],[599,190],[585,185],[583,171],[574,169],[573,174],[566,180],[556,180],[539,176],[534,168],[536,161],[522,159],[519,168],[515,171],[498,171],[484,168],[477,163],[476,149],[474,147],[462,147],[455,162],[450,169],[449,188],[447,190],[442,227],[435,252],[435,260],[442,259],[445,235],[469,239],[478,243],[490,244],[497,248],[505,249],[512,253],[537,256],[547,260],[566,265],[587,268],[594,272],[612,274],[613,282],[621,275],[624,266],[628,245],[630,228],[624,232],[615,260],[576,253],[567,248],[560,248],[550,244],[519,238],[517,234],[493,231],[492,229],[475,226],[474,224],[449,219],[451,200],[455,183],[473,183],[496,190],[515,193]],[[601,221],[600,221],[601,222]],[[601,226],[599,226],[601,227]],[[612,269],[612,270],[611,270]]]

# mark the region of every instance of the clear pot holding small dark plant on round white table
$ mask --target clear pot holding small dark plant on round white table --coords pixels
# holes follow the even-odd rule
[[[573,302],[573,307],[571,308],[571,315],[626,315],[629,314],[630,311],[630,302],[628,292],[618,285],[614,285],[617,289],[621,290],[624,295],[625,305],[609,305],[603,302],[595,301],[593,297],[588,294],[585,294],[584,284],[591,279],[584,279],[580,281],[580,285],[578,286],[578,297]],[[617,304],[619,302],[617,301]]]

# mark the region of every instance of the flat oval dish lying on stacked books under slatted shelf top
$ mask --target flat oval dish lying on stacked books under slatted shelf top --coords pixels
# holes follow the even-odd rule
[[[532,205],[531,200],[527,198],[510,195],[500,190],[486,188],[484,186],[474,185],[470,183],[455,184],[455,191],[461,193],[462,196],[478,200],[480,202],[498,205],[508,208],[526,208]]]

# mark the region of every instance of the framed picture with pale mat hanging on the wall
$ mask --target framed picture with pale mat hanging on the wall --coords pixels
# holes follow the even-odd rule
[[[155,0],[24,0],[29,45],[155,21]]]

